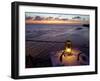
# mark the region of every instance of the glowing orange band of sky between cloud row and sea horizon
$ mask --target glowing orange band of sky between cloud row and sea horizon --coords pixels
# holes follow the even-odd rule
[[[89,24],[81,20],[25,20],[25,24],[66,24],[66,25],[83,25]]]

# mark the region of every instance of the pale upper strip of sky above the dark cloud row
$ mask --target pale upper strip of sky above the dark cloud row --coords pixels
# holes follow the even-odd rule
[[[77,17],[80,17],[81,20],[89,20],[89,15],[84,14],[62,14],[62,13],[42,13],[42,12],[25,12],[26,17],[54,17],[54,18],[67,18],[67,19],[79,19]]]

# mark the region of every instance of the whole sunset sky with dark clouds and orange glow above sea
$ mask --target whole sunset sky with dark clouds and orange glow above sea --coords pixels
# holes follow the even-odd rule
[[[89,15],[25,12],[27,24],[89,24]]]

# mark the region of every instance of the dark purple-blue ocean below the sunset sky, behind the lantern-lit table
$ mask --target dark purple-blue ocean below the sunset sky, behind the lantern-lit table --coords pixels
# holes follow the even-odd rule
[[[25,29],[27,68],[53,66],[50,61],[50,53],[63,50],[67,40],[72,42],[73,48],[81,50],[89,57],[89,27],[83,25],[26,24]],[[29,56],[34,59],[33,63],[29,62]]]

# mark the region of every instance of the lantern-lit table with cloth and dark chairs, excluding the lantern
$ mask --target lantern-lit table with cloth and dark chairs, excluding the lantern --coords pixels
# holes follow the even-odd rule
[[[58,51],[56,54],[51,55],[51,60],[53,66],[76,66],[76,65],[87,65],[88,57],[82,53],[80,50],[73,49],[72,54],[64,54],[62,55],[63,50]],[[62,61],[60,61],[60,57],[62,55]]]

